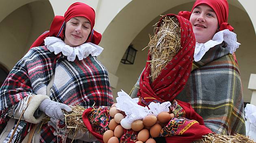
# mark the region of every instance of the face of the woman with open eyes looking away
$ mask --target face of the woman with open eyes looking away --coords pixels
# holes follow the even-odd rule
[[[207,4],[196,6],[189,21],[193,27],[195,40],[199,43],[212,40],[219,27],[216,13]]]

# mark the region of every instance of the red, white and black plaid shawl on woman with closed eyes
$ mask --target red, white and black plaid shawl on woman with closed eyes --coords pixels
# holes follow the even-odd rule
[[[39,46],[30,49],[13,67],[0,88],[0,132],[7,124],[7,115],[22,99],[31,94],[46,95],[46,86],[55,69],[57,70],[50,94],[53,101],[86,108],[91,107],[94,102],[95,107],[113,104],[107,70],[96,57],[89,55],[81,61],[76,59],[70,62],[61,53],[55,55],[46,46]],[[23,129],[30,126],[30,123],[25,123]],[[53,131],[47,124],[41,129],[40,142],[57,142],[56,136],[51,137]],[[21,135],[21,132],[16,134],[16,138],[20,138],[17,142],[21,142],[26,136]]]

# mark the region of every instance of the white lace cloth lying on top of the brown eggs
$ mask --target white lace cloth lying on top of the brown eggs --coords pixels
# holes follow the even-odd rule
[[[117,104],[115,105],[117,109],[124,111],[126,117],[123,120],[126,120],[126,124],[132,124],[135,120],[142,120],[147,115],[157,116],[162,111],[169,111],[169,106],[171,103],[169,101],[160,103],[151,102],[150,109],[148,107],[143,107],[138,105],[139,98],[132,99],[126,92],[123,90],[117,92]]]

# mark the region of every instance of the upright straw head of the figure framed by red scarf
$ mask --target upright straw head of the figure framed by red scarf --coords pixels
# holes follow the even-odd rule
[[[154,26],[154,36],[145,48],[149,48],[151,55],[151,82],[160,74],[161,70],[171,61],[180,50],[180,26],[176,17],[163,17],[161,27]],[[156,34],[156,31],[158,33]],[[145,49],[144,48],[144,49]]]

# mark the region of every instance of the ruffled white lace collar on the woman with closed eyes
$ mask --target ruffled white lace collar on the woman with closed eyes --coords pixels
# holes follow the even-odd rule
[[[63,55],[67,56],[68,61],[74,61],[76,56],[79,60],[82,60],[91,54],[91,56],[98,56],[102,52],[103,48],[95,45],[91,42],[81,44],[76,47],[71,47],[64,43],[63,40],[56,37],[46,37],[44,43],[48,50],[54,52],[55,55],[62,52]]]

